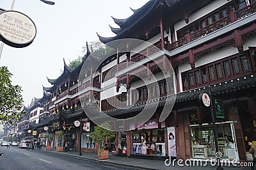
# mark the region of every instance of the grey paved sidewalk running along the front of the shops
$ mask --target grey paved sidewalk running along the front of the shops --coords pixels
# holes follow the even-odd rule
[[[104,162],[106,164],[113,164],[118,166],[127,166],[134,167],[138,169],[189,169],[189,170],[199,170],[199,169],[214,169],[216,170],[216,166],[211,166],[208,164],[207,166],[189,166],[189,167],[180,167],[175,163],[175,166],[166,166],[163,160],[152,160],[152,159],[143,159],[143,158],[129,158],[129,157],[117,157],[113,153],[109,153],[109,158],[107,160],[99,160],[97,158],[96,153],[84,153],[83,155],[79,155],[79,151],[68,151],[68,152],[56,152],[56,149],[52,148],[52,153],[67,155],[69,157],[77,157],[83,158],[84,160],[91,160],[95,162]],[[239,169],[250,169],[250,167],[223,167],[223,169],[230,170],[239,170]]]

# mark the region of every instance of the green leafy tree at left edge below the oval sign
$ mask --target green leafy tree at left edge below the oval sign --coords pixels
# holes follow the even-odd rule
[[[23,98],[21,87],[13,86],[10,78],[12,73],[6,66],[0,67],[0,122],[15,123],[21,119],[25,111],[20,112],[23,107]]]

